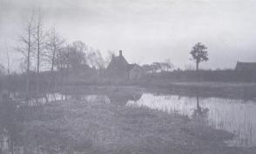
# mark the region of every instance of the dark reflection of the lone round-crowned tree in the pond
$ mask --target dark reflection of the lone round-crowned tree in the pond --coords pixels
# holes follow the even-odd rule
[[[208,118],[209,109],[208,108],[203,108],[203,107],[200,106],[198,95],[197,95],[196,99],[197,99],[197,108],[192,113],[192,118],[199,119],[199,120],[205,120],[205,119]]]

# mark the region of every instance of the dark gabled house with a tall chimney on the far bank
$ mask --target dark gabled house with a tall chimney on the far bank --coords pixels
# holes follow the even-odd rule
[[[107,67],[106,73],[111,78],[137,80],[144,76],[144,70],[137,64],[129,64],[123,56],[122,50],[119,55],[112,55],[111,62]]]

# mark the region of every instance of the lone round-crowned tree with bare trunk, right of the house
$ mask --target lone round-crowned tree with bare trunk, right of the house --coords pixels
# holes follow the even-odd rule
[[[196,62],[197,71],[199,70],[200,62],[209,60],[207,48],[201,42],[198,42],[194,47],[192,47],[190,54],[192,55],[192,60]]]

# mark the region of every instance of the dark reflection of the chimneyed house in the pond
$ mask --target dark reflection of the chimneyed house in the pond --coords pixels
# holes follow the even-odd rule
[[[112,104],[118,106],[125,106],[129,100],[137,101],[142,96],[142,93],[124,93],[124,92],[117,92],[117,93],[108,93],[107,97],[110,99]]]

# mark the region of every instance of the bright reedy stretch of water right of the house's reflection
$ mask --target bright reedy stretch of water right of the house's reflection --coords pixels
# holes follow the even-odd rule
[[[126,106],[148,107],[163,112],[176,112],[199,119],[220,130],[232,132],[230,145],[256,146],[256,102],[241,99],[180,97],[145,93]]]

